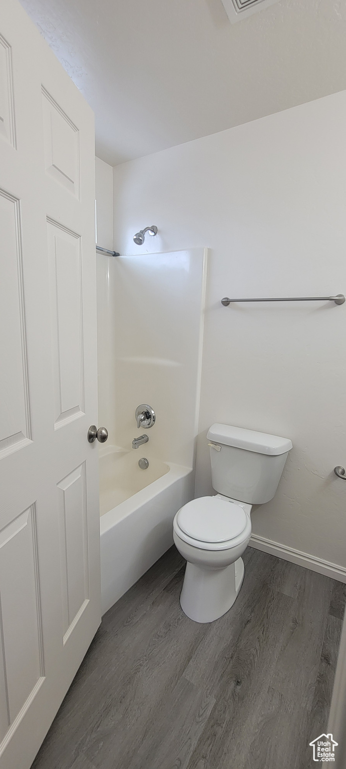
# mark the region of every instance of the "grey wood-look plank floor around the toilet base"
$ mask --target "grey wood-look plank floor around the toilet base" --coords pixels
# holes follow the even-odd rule
[[[253,548],[235,605],[181,611],[171,548],[105,614],[32,769],[308,769],[345,588]]]

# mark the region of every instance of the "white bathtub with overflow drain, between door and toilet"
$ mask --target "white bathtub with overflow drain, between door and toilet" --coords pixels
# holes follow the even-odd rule
[[[145,451],[102,447],[100,456],[102,614],[173,544],[173,518],[193,498],[193,471]],[[148,458],[147,470],[138,459]]]

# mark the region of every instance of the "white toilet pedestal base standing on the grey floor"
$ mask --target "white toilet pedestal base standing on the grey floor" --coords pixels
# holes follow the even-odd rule
[[[244,579],[242,558],[221,569],[201,568],[187,563],[180,605],[195,622],[213,622],[235,603]]]

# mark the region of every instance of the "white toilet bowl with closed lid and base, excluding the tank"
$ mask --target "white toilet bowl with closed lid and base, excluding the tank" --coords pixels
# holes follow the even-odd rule
[[[251,537],[251,504],[217,494],[185,504],[173,539],[186,559],[180,604],[195,622],[212,622],[235,603],[245,574],[241,555]]]

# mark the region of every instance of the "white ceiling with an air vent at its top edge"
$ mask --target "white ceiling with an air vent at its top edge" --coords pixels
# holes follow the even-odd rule
[[[95,112],[111,165],[346,88],[346,0],[21,0]]]

